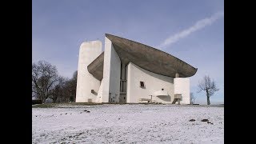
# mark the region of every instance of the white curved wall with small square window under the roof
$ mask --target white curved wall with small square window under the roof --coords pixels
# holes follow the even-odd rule
[[[140,87],[140,81],[145,88]],[[157,97],[158,90],[167,92],[169,96]],[[140,98],[151,98],[153,102],[171,103],[174,100],[174,78],[154,74],[130,62],[127,67],[127,102],[138,103]]]

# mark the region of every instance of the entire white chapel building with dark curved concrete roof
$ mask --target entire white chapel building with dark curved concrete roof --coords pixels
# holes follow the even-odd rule
[[[190,104],[187,77],[196,71],[161,50],[106,34],[104,52],[100,41],[80,46],[76,102],[174,103],[178,94]]]

